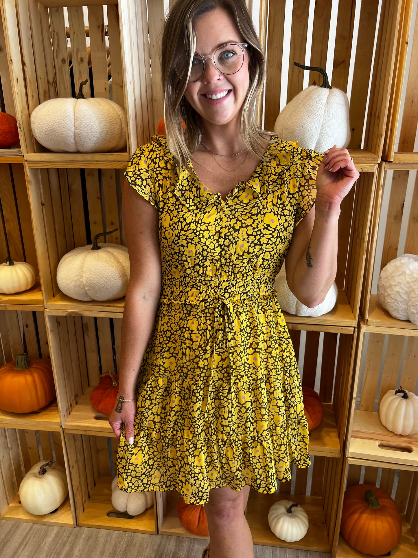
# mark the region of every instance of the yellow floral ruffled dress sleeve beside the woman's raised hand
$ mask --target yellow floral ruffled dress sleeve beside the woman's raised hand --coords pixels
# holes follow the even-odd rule
[[[294,146],[293,163],[295,179],[298,188],[298,201],[294,222],[296,227],[308,215],[315,203],[317,171],[324,155],[313,149],[299,147],[297,141],[292,143]]]

